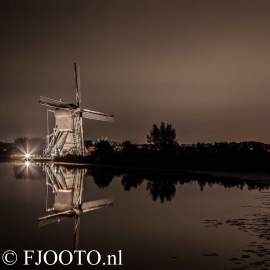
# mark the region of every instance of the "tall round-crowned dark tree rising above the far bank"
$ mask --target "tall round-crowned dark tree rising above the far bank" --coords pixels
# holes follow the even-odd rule
[[[146,136],[147,142],[154,146],[156,150],[172,150],[178,142],[176,140],[176,132],[171,124],[161,122],[160,127],[156,124],[150,130],[150,134]]]

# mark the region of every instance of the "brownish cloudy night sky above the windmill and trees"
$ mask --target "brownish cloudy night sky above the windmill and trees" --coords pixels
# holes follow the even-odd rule
[[[82,107],[115,115],[85,139],[270,142],[268,0],[1,0],[0,33],[0,141],[45,137],[39,96],[75,102],[76,62]]]

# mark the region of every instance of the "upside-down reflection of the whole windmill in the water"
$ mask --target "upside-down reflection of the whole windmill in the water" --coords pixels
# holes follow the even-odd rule
[[[52,209],[55,214],[47,215],[38,219],[38,227],[59,222],[64,218],[75,216],[73,250],[79,246],[80,213],[107,207],[113,204],[113,199],[103,199],[82,203],[83,178],[86,173],[82,168],[66,168],[46,164],[46,185],[51,186],[55,195]],[[48,194],[47,194],[48,196]]]

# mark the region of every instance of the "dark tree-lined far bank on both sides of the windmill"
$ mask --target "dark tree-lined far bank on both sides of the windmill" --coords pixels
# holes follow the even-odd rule
[[[56,157],[56,161],[84,162],[122,167],[268,171],[270,145],[261,142],[215,142],[180,144],[171,124],[154,124],[146,135],[145,144],[130,141],[117,143],[108,138],[85,141],[89,155]],[[10,154],[42,155],[43,138],[21,137],[14,143],[0,143],[0,157]]]

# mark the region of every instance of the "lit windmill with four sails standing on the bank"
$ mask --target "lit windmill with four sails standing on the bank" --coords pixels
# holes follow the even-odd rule
[[[108,113],[82,109],[80,65],[74,64],[74,76],[76,86],[76,104],[54,100],[40,96],[39,103],[54,108],[55,128],[49,134],[47,114],[47,145],[44,151],[45,157],[84,155],[83,124],[82,118],[114,122],[114,116]]]

